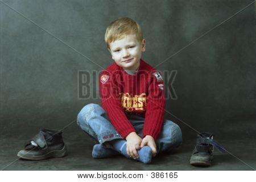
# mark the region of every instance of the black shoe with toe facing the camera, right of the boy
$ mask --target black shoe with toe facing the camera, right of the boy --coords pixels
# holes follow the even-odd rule
[[[200,133],[197,135],[196,146],[191,155],[190,164],[193,166],[210,166],[213,159],[212,133]]]

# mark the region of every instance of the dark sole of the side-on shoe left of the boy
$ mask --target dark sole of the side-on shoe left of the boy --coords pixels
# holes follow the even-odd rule
[[[19,158],[27,159],[27,160],[43,160],[48,158],[61,158],[63,156],[67,155],[67,148],[66,146],[63,147],[61,150],[52,150],[49,151],[49,153],[44,155],[26,155],[26,154],[17,154]]]

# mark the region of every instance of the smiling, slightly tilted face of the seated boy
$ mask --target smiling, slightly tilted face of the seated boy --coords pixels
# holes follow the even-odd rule
[[[110,43],[109,51],[118,66],[125,70],[137,70],[145,47],[146,41],[144,39],[139,43],[134,35],[127,35],[123,39]]]

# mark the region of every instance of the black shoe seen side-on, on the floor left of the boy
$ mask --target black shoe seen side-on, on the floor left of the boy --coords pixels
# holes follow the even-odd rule
[[[47,158],[59,158],[67,154],[67,149],[62,139],[62,132],[57,130],[40,129],[24,150],[17,154],[22,159],[42,160]]]

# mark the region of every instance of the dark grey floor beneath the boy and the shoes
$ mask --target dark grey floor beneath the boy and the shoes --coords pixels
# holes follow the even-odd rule
[[[1,137],[1,170],[253,170],[256,168],[255,139],[218,139],[232,155],[214,151],[210,167],[194,167],[189,164],[195,139],[185,139],[175,153],[158,155],[151,164],[143,164],[122,156],[107,159],[93,159],[93,140],[76,126],[63,131],[68,155],[40,161],[18,159],[16,153],[22,149],[24,141],[34,136],[26,132],[19,137]],[[236,157],[237,158],[236,158]],[[242,163],[240,160],[245,162]]]

